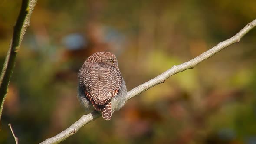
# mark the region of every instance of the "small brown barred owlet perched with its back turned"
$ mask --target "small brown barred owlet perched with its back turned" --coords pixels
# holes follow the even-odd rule
[[[125,104],[125,81],[111,52],[89,56],[79,70],[78,79],[78,97],[82,105],[101,111],[104,120],[110,120],[112,113]]]

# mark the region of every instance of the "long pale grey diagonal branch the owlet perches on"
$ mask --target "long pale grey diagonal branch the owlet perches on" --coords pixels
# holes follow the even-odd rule
[[[181,65],[173,66],[171,69],[168,69],[161,75],[158,75],[154,79],[149,80],[148,82],[145,82],[142,85],[137,86],[136,88],[133,88],[131,91],[129,91],[126,95],[126,101],[129,99],[135,97],[136,95],[139,95],[140,93],[148,90],[149,88],[152,88],[155,85],[158,85],[160,83],[163,83],[166,79],[168,79],[171,75],[177,74],[179,72],[182,72],[187,69],[193,69],[197,64],[200,62],[203,62],[205,59],[210,58],[211,56],[215,55],[220,50],[226,48],[227,46],[232,45],[233,43],[238,43],[240,39],[248,33],[253,27],[256,26],[256,19],[253,20],[251,23],[248,23],[240,32],[238,32],[235,36],[231,37],[230,39],[227,39],[223,42],[220,42],[217,44],[217,46],[214,46],[212,49],[209,49],[208,51],[202,53],[200,56],[197,56],[194,59],[191,59],[188,62],[185,62]],[[72,124],[69,128],[62,131],[61,133],[57,134],[56,136],[46,139],[40,144],[56,144],[63,140],[65,140],[67,137],[70,137],[71,135],[75,134],[79,128],[84,126],[85,124],[88,124],[89,122],[95,120],[98,118],[100,114],[96,111],[93,111],[90,114],[83,115],[78,121],[76,121],[74,124]]]

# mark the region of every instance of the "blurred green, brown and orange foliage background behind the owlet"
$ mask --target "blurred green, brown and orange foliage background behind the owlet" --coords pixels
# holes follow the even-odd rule
[[[0,0],[2,67],[21,0]],[[39,0],[17,55],[0,144],[53,137],[86,114],[77,75],[118,57],[128,90],[200,55],[256,18],[255,0]],[[256,144],[256,28],[194,69],[132,98],[62,144]]]

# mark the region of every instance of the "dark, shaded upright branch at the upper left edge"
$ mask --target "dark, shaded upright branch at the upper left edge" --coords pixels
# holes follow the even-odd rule
[[[20,49],[20,43],[26,32],[26,28],[30,24],[30,17],[35,5],[36,0],[22,0],[20,13],[13,28],[13,38],[11,40],[10,47],[7,52],[7,56],[5,58],[2,73],[0,76],[0,121],[8,85],[15,65],[16,55],[18,53],[18,50]]]

